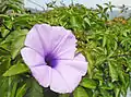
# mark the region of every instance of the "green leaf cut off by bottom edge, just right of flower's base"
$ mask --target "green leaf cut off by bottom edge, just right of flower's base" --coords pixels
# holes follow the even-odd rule
[[[79,87],[74,90],[73,96],[74,96],[74,97],[88,97],[86,90],[85,90],[83,87],[81,87],[81,86],[79,86]]]

